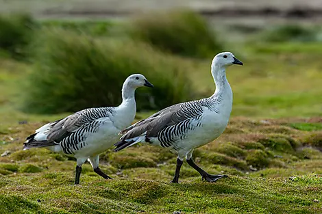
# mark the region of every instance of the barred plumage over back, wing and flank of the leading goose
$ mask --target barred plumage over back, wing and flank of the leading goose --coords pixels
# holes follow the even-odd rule
[[[145,142],[149,142],[151,137],[157,137],[162,147],[172,147],[179,150],[179,146],[175,144],[177,140],[186,138],[189,131],[193,131],[201,124],[204,107],[214,113],[219,113],[219,109],[214,106],[219,105],[222,101],[221,95],[210,96],[197,101],[187,103],[179,103],[166,109],[162,109],[145,120],[141,120],[121,132],[121,142],[115,144],[116,150],[125,148],[122,145],[127,144],[127,139],[145,134]],[[119,146],[118,146],[119,145]]]

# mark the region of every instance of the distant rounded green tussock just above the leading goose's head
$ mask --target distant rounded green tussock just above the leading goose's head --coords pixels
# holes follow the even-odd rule
[[[223,50],[208,23],[188,10],[145,14],[132,24],[132,34],[163,51],[188,57],[213,57]]]

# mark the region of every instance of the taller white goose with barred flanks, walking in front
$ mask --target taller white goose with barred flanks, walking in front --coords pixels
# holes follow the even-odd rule
[[[232,88],[225,70],[233,64],[243,65],[230,52],[217,54],[212,60],[211,72],[216,90],[209,98],[172,105],[145,120],[140,120],[121,131],[120,141],[114,144],[119,151],[139,142],[169,148],[177,153],[175,176],[171,183],[178,183],[179,172],[186,162],[202,180],[214,182],[227,175],[212,175],[199,168],[193,161],[193,150],[219,137],[225,130],[232,111]]]

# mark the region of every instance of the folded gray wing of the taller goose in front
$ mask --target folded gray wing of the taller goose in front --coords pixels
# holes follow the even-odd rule
[[[161,146],[171,146],[175,139],[184,137],[186,131],[200,124],[191,124],[192,120],[198,120],[203,112],[203,106],[198,101],[180,103],[162,109],[145,120],[140,120],[123,130],[121,141],[145,135],[145,141],[152,137],[158,137]]]

